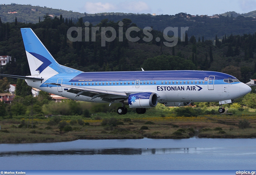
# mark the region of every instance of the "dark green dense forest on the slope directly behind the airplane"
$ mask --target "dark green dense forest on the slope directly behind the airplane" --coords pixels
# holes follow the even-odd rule
[[[122,19],[122,22],[124,31],[136,26],[130,19]],[[67,30],[71,26],[82,27],[82,42],[70,42],[67,39]],[[90,30],[92,26],[90,23]],[[101,20],[95,26],[111,26],[116,31],[119,29],[118,22],[108,19]],[[74,23],[62,15],[59,18],[45,15],[44,20],[36,24],[17,20],[4,23],[0,20],[0,55],[12,56],[12,61],[0,69],[3,74],[30,74],[20,28],[32,28],[60,64],[81,71],[139,71],[141,67],[144,70],[211,70],[229,73],[242,82],[256,75],[253,75],[256,72],[255,33],[231,34],[220,38],[216,35],[216,43],[206,40],[204,36],[188,37],[186,34],[185,42],[179,39],[175,47],[166,47],[162,42],[162,32],[152,30],[153,40],[145,42],[142,39],[145,34],[141,29],[131,32],[132,37],[141,38],[137,42],[129,42],[125,33],[123,42],[119,42],[117,32],[116,39],[106,42],[106,46],[102,47],[101,30],[96,33],[95,42],[91,38],[90,42],[85,42],[84,19],[80,18]],[[75,37],[76,34],[73,35]],[[156,37],[161,38],[161,41],[157,42]],[[15,83],[16,80],[11,81]]]

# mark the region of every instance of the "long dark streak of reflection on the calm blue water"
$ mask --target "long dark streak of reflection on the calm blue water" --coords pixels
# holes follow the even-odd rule
[[[0,157],[22,156],[22,155],[147,155],[147,154],[171,154],[171,153],[199,153],[202,150],[212,150],[217,148],[113,148],[113,149],[81,149],[81,150],[44,150],[44,151],[12,151],[0,152]]]

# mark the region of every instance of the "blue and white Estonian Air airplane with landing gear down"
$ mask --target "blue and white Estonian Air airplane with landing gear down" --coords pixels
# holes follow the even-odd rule
[[[136,108],[144,114],[157,103],[187,106],[191,102],[234,102],[251,91],[236,77],[220,72],[197,70],[82,72],[60,65],[30,28],[20,29],[30,76],[1,76],[25,79],[28,86],[73,100],[122,103],[117,113]]]

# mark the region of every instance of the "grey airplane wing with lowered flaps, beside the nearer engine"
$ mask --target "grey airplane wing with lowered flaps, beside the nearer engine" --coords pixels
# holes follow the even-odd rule
[[[100,89],[59,84],[59,83],[45,83],[45,84],[70,88],[67,92],[76,94],[75,97],[83,95],[83,96],[91,97],[90,100],[100,97],[102,98],[102,100],[110,102],[113,99],[124,99],[125,97],[127,97],[127,94],[129,94],[126,92],[120,92],[120,91],[114,91],[114,90],[100,90]]]

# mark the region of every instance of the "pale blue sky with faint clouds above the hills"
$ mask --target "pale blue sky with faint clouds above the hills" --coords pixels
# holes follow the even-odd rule
[[[179,12],[186,12],[191,15],[210,16],[227,11],[247,13],[256,10],[256,0],[1,0],[1,4],[10,3],[39,5],[89,14],[124,12],[175,15]]]

